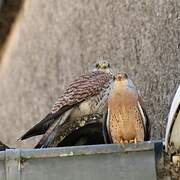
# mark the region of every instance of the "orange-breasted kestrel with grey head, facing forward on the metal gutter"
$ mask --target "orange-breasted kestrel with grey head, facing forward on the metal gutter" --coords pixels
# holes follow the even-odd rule
[[[118,73],[108,99],[105,126],[111,143],[149,140],[149,122],[141,98],[126,73]]]

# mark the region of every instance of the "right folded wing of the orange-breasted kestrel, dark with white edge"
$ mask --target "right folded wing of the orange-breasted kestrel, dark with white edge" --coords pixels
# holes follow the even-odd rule
[[[143,124],[144,124],[144,129],[145,129],[145,139],[144,140],[147,141],[147,140],[150,140],[151,126],[150,126],[150,122],[149,122],[147,113],[144,109],[143,101],[139,95],[138,95],[138,109],[139,109],[139,112],[141,113],[141,116],[143,119]]]

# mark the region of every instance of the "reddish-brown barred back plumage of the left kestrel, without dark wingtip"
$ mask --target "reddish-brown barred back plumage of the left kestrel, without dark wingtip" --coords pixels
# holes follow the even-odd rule
[[[71,106],[97,95],[110,78],[109,74],[102,71],[80,76],[70,84],[63,96],[54,104],[51,112],[56,113],[64,106]]]

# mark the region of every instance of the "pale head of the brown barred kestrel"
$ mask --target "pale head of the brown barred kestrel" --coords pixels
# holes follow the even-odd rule
[[[98,61],[94,64],[93,71],[103,71],[112,74],[111,65],[108,61]]]

